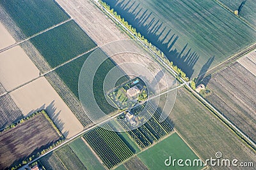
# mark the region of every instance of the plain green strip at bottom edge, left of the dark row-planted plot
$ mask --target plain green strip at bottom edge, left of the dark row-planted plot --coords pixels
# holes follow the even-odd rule
[[[86,146],[83,139],[78,138],[72,141],[72,143],[69,143],[68,146],[74,151],[86,169],[105,169],[95,155],[93,155],[90,148]]]

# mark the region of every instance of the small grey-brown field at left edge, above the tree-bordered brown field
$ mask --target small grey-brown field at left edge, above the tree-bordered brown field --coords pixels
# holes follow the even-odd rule
[[[6,94],[0,97],[0,129],[4,129],[13,122],[17,122],[22,117],[22,112],[10,95]]]

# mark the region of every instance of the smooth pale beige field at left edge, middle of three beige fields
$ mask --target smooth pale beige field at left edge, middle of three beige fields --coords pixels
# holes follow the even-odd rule
[[[39,73],[20,46],[0,53],[0,82],[7,91],[37,78]]]

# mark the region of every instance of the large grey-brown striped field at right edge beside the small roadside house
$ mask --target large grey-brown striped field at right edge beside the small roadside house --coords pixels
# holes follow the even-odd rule
[[[251,67],[252,64],[248,65],[244,60],[248,60],[248,57],[239,62],[255,71],[256,64]],[[256,141],[256,76],[239,62],[212,75],[207,85],[211,94],[205,98]]]

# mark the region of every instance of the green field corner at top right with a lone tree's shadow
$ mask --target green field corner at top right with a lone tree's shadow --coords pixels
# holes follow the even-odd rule
[[[253,0],[218,0],[225,5],[229,10],[237,10],[239,17],[256,27],[256,3]]]

